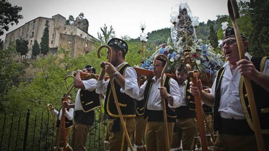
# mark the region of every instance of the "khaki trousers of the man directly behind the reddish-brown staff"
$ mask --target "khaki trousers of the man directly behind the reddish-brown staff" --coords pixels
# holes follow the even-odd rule
[[[173,131],[172,149],[179,150],[182,141],[183,150],[193,150],[196,123],[195,117],[176,119],[176,131]]]

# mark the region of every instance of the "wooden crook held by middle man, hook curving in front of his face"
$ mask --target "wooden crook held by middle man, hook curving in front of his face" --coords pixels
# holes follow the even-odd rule
[[[161,87],[164,85],[164,72],[166,68],[168,67],[168,58],[164,54],[159,54],[155,57],[153,64],[156,64],[156,61],[158,58],[164,58],[166,60],[166,64],[164,66],[164,69],[161,74]],[[165,98],[161,96],[162,99],[162,106],[163,106],[163,114],[164,114],[164,131],[165,131],[165,141],[166,141],[166,151],[170,150],[170,142],[169,142],[169,135],[168,135],[168,124],[167,124],[167,115],[166,115],[166,106],[165,106]]]

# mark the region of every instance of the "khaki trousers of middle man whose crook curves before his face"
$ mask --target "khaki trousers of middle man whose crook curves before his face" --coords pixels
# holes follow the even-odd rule
[[[168,122],[169,142],[171,142],[171,139],[172,139],[173,126],[174,126],[174,123]],[[166,150],[164,122],[147,122],[146,149],[147,151],[165,151]]]

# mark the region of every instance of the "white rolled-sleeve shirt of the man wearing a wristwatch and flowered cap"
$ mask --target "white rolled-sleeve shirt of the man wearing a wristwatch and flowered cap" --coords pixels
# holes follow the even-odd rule
[[[124,66],[125,64],[127,63],[121,63],[115,69],[118,71],[118,69],[121,66]],[[131,98],[134,98],[134,99],[137,98],[137,96],[139,95],[139,87],[137,84],[137,74],[135,72],[135,69],[132,67],[126,68],[124,72],[124,78],[125,78],[125,82],[124,82],[125,88],[124,89],[120,88],[120,92],[129,95]],[[96,83],[96,93],[97,94],[105,93],[108,84],[109,84],[109,80],[98,81]]]

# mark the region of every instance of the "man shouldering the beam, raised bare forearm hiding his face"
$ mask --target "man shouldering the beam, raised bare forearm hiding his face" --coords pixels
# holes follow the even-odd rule
[[[95,69],[87,65],[83,70],[77,70],[75,88],[79,88],[75,104],[63,103],[67,108],[75,108],[75,124],[73,126],[71,147],[75,151],[86,151],[86,138],[90,126],[94,123],[94,109],[100,107],[99,95],[95,92],[97,79],[82,79],[80,73],[95,74]]]

